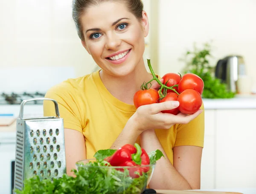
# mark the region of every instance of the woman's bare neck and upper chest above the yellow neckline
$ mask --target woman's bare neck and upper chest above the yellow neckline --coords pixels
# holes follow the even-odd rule
[[[100,71],[100,77],[107,90],[117,99],[127,104],[133,104],[134,94],[140,90],[143,82],[150,81],[152,75],[147,72],[143,59],[141,65],[138,64],[136,69],[129,75],[115,77],[104,71]]]

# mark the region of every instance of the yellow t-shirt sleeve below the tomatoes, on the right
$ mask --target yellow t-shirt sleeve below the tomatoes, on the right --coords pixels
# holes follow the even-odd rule
[[[204,110],[204,104],[201,108]],[[195,145],[204,147],[204,111],[186,125],[178,125],[175,146]]]

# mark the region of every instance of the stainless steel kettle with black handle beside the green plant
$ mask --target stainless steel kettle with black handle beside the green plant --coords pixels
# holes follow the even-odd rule
[[[246,75],[244,58],[239,55],[227,56],[217,62],[215,77],[227,84],[227,90],[237,92],[239,75]]]

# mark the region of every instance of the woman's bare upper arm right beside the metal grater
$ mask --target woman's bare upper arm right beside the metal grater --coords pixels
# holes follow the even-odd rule
[[[74,176],[71,170],[76,169],[76,162],[86,159],[84,135],[77,130],[65,128],[64,139],[67,174]]]

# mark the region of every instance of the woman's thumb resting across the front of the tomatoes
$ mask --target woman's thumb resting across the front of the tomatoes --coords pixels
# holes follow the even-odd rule
[[[162,110],[172,110],[180,105],[179,101],[165,101],[161,103],[149,104],[149,112],[156,114]]]

